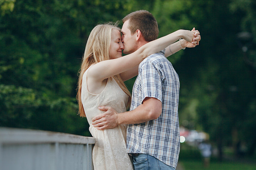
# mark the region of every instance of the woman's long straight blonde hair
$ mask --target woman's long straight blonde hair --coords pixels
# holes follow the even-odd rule
[[[110,59],[109,49],[111,43],[111,32],[113,29],[121,31],[120,28],[114,25],[113,23],[105,23],[97,25],[90,32],[88,37],[86,47],[84,50],[84,56],[81,63],[81,68],[79,70],[79,80],[77,86],[77,95],[76,99],[79,104],[79,114],[81,117],[85,117],[84,107],[81,102],[81,86],[84,72],[92,65],[93,63],[98,63],[107,59]],[[119,74],[113,76],[117,84],[122,88],[122,90],[129,96],[128,107],[131,105],[131,94],[125,86],[125,83],[122,81]]]

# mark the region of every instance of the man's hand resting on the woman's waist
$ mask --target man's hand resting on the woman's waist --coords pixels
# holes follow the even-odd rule
[[[99,116],[95,116],[93,121],[93,127],[97,127],[98,130],[111,129],[118,126],[117,112],[108,106],[101,106],[99,110],[105,111]]]

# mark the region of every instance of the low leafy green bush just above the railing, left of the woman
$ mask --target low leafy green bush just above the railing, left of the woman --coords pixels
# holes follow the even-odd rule
[[[0,85],[0,108],[1,126],[89,135],[74,98],[52,99],[33,89]]]

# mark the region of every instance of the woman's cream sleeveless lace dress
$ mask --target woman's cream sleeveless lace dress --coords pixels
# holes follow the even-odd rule
[[[100,94],[91,94],[87,88],[87,71],[85,71],[81,101],[90,125],[90,133],[96,138],[93,147],[94,170],[133,170],[126,150],[126,125],[106,130],[97,130],[92,126],[93,117],[104,113],[98,109],[99,106],[111,106],[117,113],[125,112],[128,95],[122,91],[113,77],[108,78],[105,89]]]

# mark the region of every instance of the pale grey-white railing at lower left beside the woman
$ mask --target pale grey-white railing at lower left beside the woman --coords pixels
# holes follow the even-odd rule
[[[93,170],[95,139],[0,127],[0,170]]]

